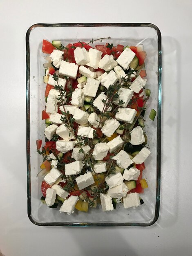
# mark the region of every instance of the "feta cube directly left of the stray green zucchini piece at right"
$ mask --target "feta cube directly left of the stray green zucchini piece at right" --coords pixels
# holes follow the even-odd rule
[[[118,112],[116,113],[115,118],[119,121],[132,124],[136,114],[137,111],[133,108],[118,108]]]

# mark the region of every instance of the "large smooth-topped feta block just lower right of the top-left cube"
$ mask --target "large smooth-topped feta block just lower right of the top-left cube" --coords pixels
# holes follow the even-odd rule
[[[78,71],[78,65],[76,65],[75,63],[69,63],[67,61],[61,61],[59,74],[62,74],[63,76],[68,76],[68,77],[76,79],[77,71]]]

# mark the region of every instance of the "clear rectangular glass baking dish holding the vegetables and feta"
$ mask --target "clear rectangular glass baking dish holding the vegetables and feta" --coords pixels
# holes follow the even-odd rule
[[[42,156],[36,153],[36,139],[45,139],[45,122],[41,111],[45,108],[45,84],[43,83],[42,40],[60,39],[63,45],[78,41],[89,42],[110,36],[102,44],[143,44],[147,52],[145,67],[147,88],[151,96],[145,113],[145,131],[152,154],[146,161],[143,172],[149,188],[142,199],[145,202],[136,209],[124,209],[119,205],[114,211],[103,212],[101,207],[88,213],[75,211],[72,215],[60,213],[42,205],[40,184],[37,177]],[[99,42],[99,41],[98,41]],[[98,43],[96,42],[96,44]],[[31,222],[40,226],[150,226],[159,217],[160,204],[160,157],[161,157],[161,32],[148,23],[96,23],[96,24],[35,24],[26,34],[26,98],[27,98],[27,204]],[[151,108],[157,110],[154,122],[148,119]]]

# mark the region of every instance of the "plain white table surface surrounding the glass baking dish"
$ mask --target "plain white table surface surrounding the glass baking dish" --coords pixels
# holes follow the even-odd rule
[[[191,256],[192,1],[0,1],[0,255]],[[38,227],[27,217],[25,33],[32,24],[150,22],[163,45],[161,213],[151,227]]]

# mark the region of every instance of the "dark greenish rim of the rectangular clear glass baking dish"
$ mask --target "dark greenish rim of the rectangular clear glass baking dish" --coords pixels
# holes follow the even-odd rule
[[[37,222],[31,215],[31,170],[30,170],[30,48],[29,36],[36,27],[151,27],[156,31],[158,43],[158,102],[157,102],[157,161],[156,161],[156,200],[155,215],[151,222]],[[72,226],[72,227],[117,227],[153,225],[159,218],[160,211],[160,185],[161,185],[161,31],[152,23],[36,23],[29,27],[25,37],[26,43],[26,149],[27,149],[27,214],[29,220],[38,226]]]

